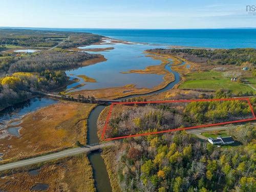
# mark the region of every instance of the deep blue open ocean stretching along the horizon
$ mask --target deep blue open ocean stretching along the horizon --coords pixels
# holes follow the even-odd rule
[[[19,28],[90,32],[116,39],[201,48],[256,48],[256,29],[72,29]]]

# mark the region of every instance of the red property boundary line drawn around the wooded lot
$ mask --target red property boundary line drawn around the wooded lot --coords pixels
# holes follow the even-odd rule
[[[110,105],[110,110],[108,113],[108,116],[106,117],[106,122],[103,127],[103,131],[101,134],[100,139],[103,140],[106,126],[108,124],[110,114],[112,111],[112,107],[114,104],[139,104],[139,103],[173,103],[173,102],[193,102],[193,101],[230,101],[230,100],[245,100],[248,102],[249,108],[251,110],[253,118],[249,119],[242,119],[242,120],[236,120],[236,121],[226,121],[221,123],[213,123],[213,124],[203,124],[203,125],[197,125],[197,126],[190,126],[190,127],[184,127],[184,128],[178,128],[178,129],[172,129],[172,130],[164,130],[164,131],[158,131],[158,132],[150,132],[150,133],[142,133],[142,134],[135,134],[135,135],[127,135],[127,136],[120,136],[120,137],[113,137],[113,138],[106,138],[104,141],[110,141],[110,140],[116,140],[116,139],[123,139],[123,138],[129,138],[129,137],[138,137],[138,136],[144,136],[144,135],[151,135],[151,134],[159,134],[159,133],[167,133],[167,132],[175,132],[175,131],[181,131],[181,130],[190,130],[190,129],[197,129],[202,127],[208,127],[208,126],[215,126],[215,125],[222,125],[222,124],[230,124],[230,123],[237,123],[237,122],[244,122],[244,121],[251,121],[256,120],[256,116],[253,112],[252,105],[250,103],[249,98],[224,98],[224,99],[194,99],[194,100],[163,100],[163,101],[140,101],[140,102],[112,102]]]

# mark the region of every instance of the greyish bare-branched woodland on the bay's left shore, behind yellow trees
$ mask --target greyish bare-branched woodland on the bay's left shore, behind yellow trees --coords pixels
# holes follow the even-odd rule
[[[41,52],[8,62],[9,73],[13,72],[41,72],[48,70],[63,70],[82,66],[82,61],[97,57],[86,52]],[[3,64],[2,64],[3,65]],[[4,65],[6,66],[6,65]]]

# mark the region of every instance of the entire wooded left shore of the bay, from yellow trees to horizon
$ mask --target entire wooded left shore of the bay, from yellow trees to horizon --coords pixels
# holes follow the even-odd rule
[[[0,53],[0,109],[29,99],[33,91],[51,91],[64,86],[68,79],[60,70],[81,67],[83,61],[98,57],[65,48],[92,44],[101,37],[79,32],[0,29],[0,51],[41,48],[32,54]],[[59,45],[57,49],[49,50],[56,45]]]

